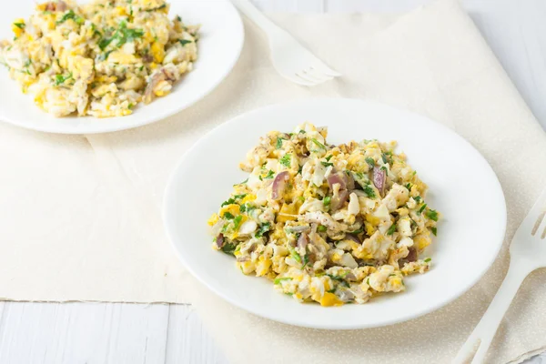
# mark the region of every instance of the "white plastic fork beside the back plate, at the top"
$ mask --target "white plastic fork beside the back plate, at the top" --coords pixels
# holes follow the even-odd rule
[[[273,66],[281,76],[304,86],[316,86],[341,76],[326,66],[319,58],[313,56],[287,31],[273,24],[248,0],[232,0],[232,2],[241,13],[247,15],[268,35]]]

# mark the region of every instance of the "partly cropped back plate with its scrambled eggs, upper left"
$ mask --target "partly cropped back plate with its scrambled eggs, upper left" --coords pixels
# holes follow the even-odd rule
[[[244,31],[227,0],[23,0],[0,14],[0,120],[101,133],[192,105],[227,76]]]

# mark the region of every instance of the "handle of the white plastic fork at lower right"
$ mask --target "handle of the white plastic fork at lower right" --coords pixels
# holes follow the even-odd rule
[[[501,288],[499,288],[495,298],[491,301],[490,307],[487,308],[487,311],[480,319],[480,322],[460,349],[457,357],[451,361],[451,364],[468,362],[478,341],[480,341],[480,346],[471,363],[478,364],[483,362],[504,314],[510,307],[511,301],[516,295],[516,292],[518,292],[523,279],[529,275],[531,270],[520,260],[511,261],[508,273],[506,274],[504,281],[502,281]]]

